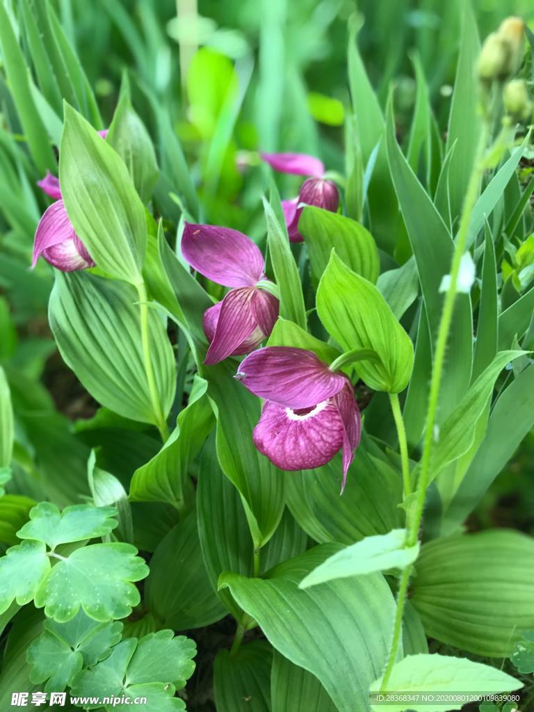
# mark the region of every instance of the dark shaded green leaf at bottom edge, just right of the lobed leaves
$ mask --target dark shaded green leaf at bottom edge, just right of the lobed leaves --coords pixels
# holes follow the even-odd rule
[[[219,650],[214,661],[217,712],[271,712],[273,649],[264,640],[241,645],[232,655]]]

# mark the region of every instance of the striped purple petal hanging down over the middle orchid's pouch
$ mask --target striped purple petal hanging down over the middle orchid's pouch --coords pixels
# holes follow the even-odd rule
[[[251,301],[254,289],[232,289],[221,302],[219,318],[204,363],[214,364],[233,354],[257,328]],[[213,318],[213,315],[211,315]]]

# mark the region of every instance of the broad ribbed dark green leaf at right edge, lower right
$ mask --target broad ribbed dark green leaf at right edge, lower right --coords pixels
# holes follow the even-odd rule
[[[476,655],[508,657],[520,631],[534,628],[534,570],[525,566],[533,555],[534,540],[511,530],[424,544],[410,600],[426,634]]]

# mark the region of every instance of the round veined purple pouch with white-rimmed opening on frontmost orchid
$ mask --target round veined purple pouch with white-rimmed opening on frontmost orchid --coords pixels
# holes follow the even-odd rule
[[[303,470],[329,462],[341,449],[344,432],[333,399],[300,410],[266,401],[253,441],[277,467]]]

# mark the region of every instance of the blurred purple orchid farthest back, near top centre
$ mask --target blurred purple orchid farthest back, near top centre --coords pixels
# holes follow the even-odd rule
[[[282,201],[283,215],[288,226],[290,242],[302,242],[298,221],[303,205],[315,205],[335,213],[340,204],[340,194],[335,183],[324,177],[325,166],[315,156],[304,153],[262,153],[261,157],[281,173],[311,176],[300,186],[297,198]]]

